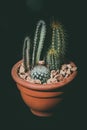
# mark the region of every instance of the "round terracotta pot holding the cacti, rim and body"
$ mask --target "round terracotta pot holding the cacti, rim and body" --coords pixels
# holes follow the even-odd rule
[[[55,84],[33,84],[18,76],[17,71],[21,62],[22,61],[19,61],[13,66],[11,74],[25,104],[28,105],[31,112],[37,116],[53,115],[53,110],[55,110],[58,104],[63,100],[63,88],[75,78],[77,71],[73,72],[63,81]]]

